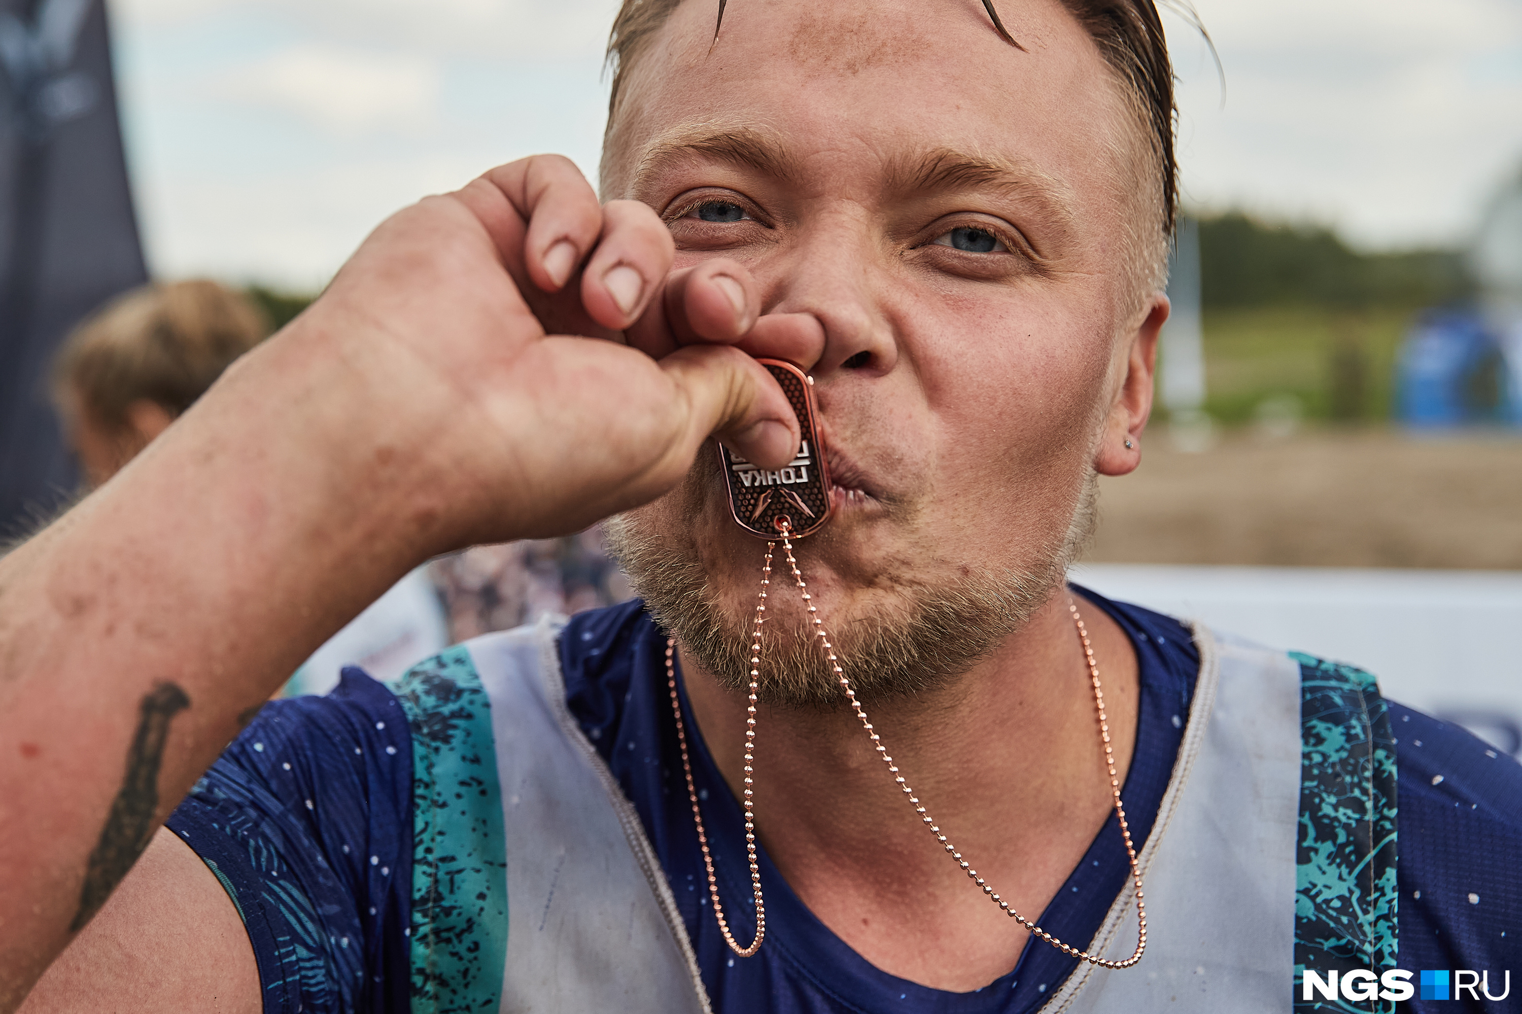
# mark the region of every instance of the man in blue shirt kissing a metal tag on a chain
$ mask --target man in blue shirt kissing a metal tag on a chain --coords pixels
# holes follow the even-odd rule
[[[1006,2],[1001,23],[909,0],[720,9],[717,35],[702,0],[619,12],[603,190],[633,204],[598,210],[562,163],[530,160],[406,213],[298,321],[306,343],[277,338],[187,417],[192,460],[219,432],[210,410],[332,382],[301,422],[324,442],[358,432],[335,422],[350,413],[380,432],[324,445],[336,475],[291,431],[266,438],[256,480],[294,504],[205,466],[250,533],[228,568],[269,582],[250,585],[269,604],[210,589],[201,612],[237,630],[158,649],[192,700],[213,697],[193,749],[161,751],[183,778],[163,795],[231,734],[233,691],[216,694],[257,685],[248,655],[358,601],[332,568],[373,585],[420,551],[624,510],[615,547],[645,604],[473,641],[396,697],[355,673],[271,705],[27,1009],[1259,1011],[1301,1002],[1297,965],[1347,973],[1317,994],[1329,1009],[1411,996],[1379,981],[1397,965],[1489,970],[1501,996],[1508,758],[1387,708],[1358,670],[1064,585],[1093,477],[1140,460],[1167,315],[1151,3]],[[440,329],[444,295],[467,301]],[[664,356],[674,407],[650,359],[610,344],[493,358],[493,318],[524,320],[525,300],[545,329]],[[763,467],[798,446],[778,388],[711,347],[737,341],[813,376],[834,480],[834,518],[770,557],[696,452],[709,429]],[[167,481],[131,478],[96,512]],[[326,566],[285,572],[294,548]],[[73,589],[59,611],[88,615],[53,582]],[[193,620],[160,623],[205,638]],[[142,700],[129,757],[181,731],[172,690]],[[55,824],[68,842],[87,825]],[[122,866],[79,851],[49,883]],[[114,885],[82,880],[96,906]],[[61,939],[61,888],[29,891]]]

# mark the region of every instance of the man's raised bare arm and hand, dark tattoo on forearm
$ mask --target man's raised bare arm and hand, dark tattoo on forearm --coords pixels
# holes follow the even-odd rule
[[[0,1014],[240,717],[408,568],[645,502],[711,434],[791,460],[785,396],[728,347],[761,330],[756,286],[723,259],[668,277],[671,253],[653,210],[600,207],[557,157],[425,199],[0,560]],[[630,327],[639,347],[572,336]],[[769,329],[819,330],[807,314]]]

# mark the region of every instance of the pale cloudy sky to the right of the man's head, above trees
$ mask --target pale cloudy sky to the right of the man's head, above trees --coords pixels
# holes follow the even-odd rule
[[[1368,247],[1466,242],[1522,161],[1514,0],[1198,0],[1170,20],[1186,202],[1313,218]]]

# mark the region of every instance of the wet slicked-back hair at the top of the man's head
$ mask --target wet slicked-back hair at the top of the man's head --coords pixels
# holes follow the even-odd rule
[[[728,0],[711,0],[715,5],[714,35],[723,27]],[[746,0],[737,0],[744,3]],[[1166,0],[1164,0],[1166,2]],[[682,0],[622,0],[613,30],[607,38],[607,61],[613,72],[613,93],[607,105],[607,136],[612,134],[618,113],[619,90],[627,70],[639,59],[644,49],[667,23]],[[1090,38],[1099,47],[1105,62],[1131,93],[1137,114],[1143,119],[1146,148],[1151,151],[1160,175],[1158,209],[1161,212],[1161,234],[1173,233],[1173,216],[1178,210],[1178,163],[1173,158],[1173,65],[1167,56],[1167,40],[1163,35],[1163,20],[1154,0],[1059,0]],[[1017,49],[1015,40],[1005,30],[992,0],[983,0],[994,27],[1000,37]],[[604,155],[606,158],[606,155]],[[1151,244],[1148,244],[1151,245]]]

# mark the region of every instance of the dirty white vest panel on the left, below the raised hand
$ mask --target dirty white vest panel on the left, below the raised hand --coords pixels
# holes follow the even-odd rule
[[[665,872],[566,708],[540,621],[469,641],[507,837],[504,1014],[711,1014]]]

